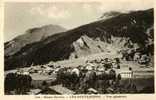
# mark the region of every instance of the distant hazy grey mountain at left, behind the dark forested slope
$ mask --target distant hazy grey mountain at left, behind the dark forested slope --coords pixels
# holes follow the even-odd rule
[[[41,41],[55,33],[64,32],[65,29],[58,25],[45,25],[28,29],[23,35],[5,43],[5,56],[11,56],[20,51],[24,46]]]

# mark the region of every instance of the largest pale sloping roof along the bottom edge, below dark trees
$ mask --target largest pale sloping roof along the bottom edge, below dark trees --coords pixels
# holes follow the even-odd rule
[[[60,94],[75,94],[74,91],[72,91],[66,87],[63,87],[62,85],[50,86],[49,88],[60,93]]]

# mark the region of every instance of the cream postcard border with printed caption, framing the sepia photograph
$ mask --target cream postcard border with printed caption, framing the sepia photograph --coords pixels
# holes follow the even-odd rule
[[[34,99],[38,99],[38,100],[42,100],[42,99],[49,99],[49,100],[56,100],[57,98],[44,98],[44,95],[40,96],[41,98],[37,98],[37,96],[33,96],[33,95],[11,95],[11,96],[6,96],[4,95],[4,39],[3,39],[3,23],[4,23],[4,2],[112,2],[112,1],[116,1],[116,0],[88,0],[88,1],[84,1],[84,0],[1,0],[0,1],[0,99],[1,100],[34,100]],[[129,0],[118,0],[119,2],[127,2]],[[150,0],[130,0],[130,1],[134,1],[135,3],[141,3],[144,1],[150,1]],[[154,1],[154,0],[153,0]],[[155,8],[155,2],[154,2],[154,8]],[[154,10],[155,11],[155,10]],[[156,13],[154,12],[154,16],[156,16]],[[154,20],[155,21],[155,20]],[[155,22],[154,22],[155,23]],[[154,24],[154,31],[155,31],[155,27],[156,24]],[[154,40],[155,40],[155,36],[154,36]],[[155,41],[154,41],[155,42]],[[156,61],[156,60],[155,60]],[[154,67],[154,70],[156,70],[156,67]],[[156,77],[155,77],[155,87],[156,87]],[[156,88],[155,88],[155,92],[156,92]],[[65,98],[64,99],[78,99],[78,98],[68,98],[69,95],[64,95]],[[100,98],[89,98],[89,99],[101,99],[101,100],[105,100],[105,99],[121,99],[121,100],[156,100],[156,94],[106,94],[106,95],[100,95]],[[108,98],[107,96],[126,96],[125,97],[121,97],[121,98]],[[54,97],[54,95],[52,95],[51,97]],[[61,99],[61,98],[59,98]],[[81,100],[83,99],[87,99],[86,97],[84,98],[79,98]]]

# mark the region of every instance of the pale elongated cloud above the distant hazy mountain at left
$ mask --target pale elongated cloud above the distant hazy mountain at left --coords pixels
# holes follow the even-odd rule
[[[43,16],[43,17],[48,17],[51,19],[67,19],[71,16],[69,11],[67,11],[63,8],[60,8],[59,6],[56,7],[56,6],[40,5],[37,7],[33,7],[30,10],[30,13],[39,15],[39,16]]]

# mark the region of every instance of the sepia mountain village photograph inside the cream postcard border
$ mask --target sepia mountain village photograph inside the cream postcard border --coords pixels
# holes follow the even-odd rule
[[[154,94],[154,4],[132,1],[5,2],[4,94]]]

